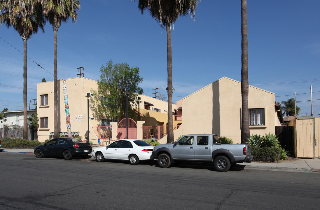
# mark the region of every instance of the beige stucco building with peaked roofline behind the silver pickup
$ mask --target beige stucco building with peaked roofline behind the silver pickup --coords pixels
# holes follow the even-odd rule
[[[250,135],[275,133],[281,125],[281,104],[275,94],[249,85]],[[241,140],[241,82],[222,77],[177,102],[182,124],[174,138],[190,133],[216,133]],[[161,143],[166,142],[165,137]]]

